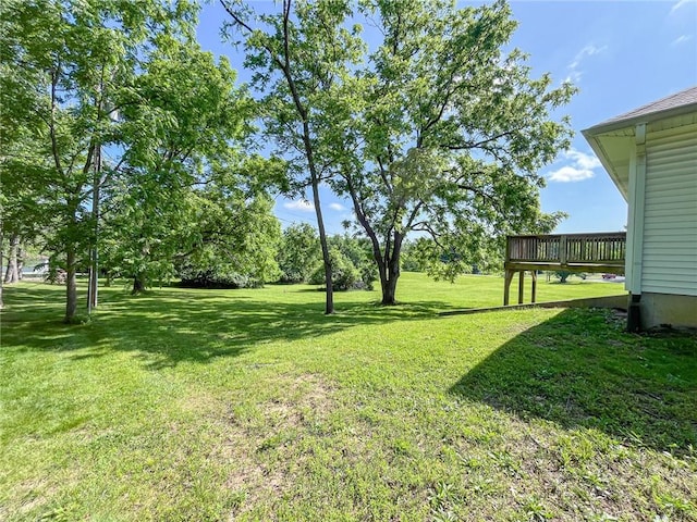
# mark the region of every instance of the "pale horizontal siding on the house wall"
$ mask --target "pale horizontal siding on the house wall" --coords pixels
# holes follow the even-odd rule
[[[697,125],[649,133],[641,290],[697,296]]]

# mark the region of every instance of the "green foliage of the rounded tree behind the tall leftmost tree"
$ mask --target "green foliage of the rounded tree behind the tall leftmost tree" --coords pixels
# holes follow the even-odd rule
[[[139,101],[126,100],[122,112],[124,125],[138,129],[129,169],[107,189],[113,212],[106,216],[106,260],[112,272],[147,284],[174,275],[175,261],[192,253],[200,259],[189,262],[207,272],[221,244],[241,247],[252,241],[245,237],[249,231],[266,237],[264,226],[255,229],[253,214],[268,212],[268,204],[259,208],[257,199],[248,204],[258,188],[233,148],[246,138],[252,117],[252,104],[233,87],[234,78],[225,60],[216,63],[198,46],[176,41],[156,52],[138,77]],[[258,160],[254,163],[253,171],[260,171]],[[241,251],[220,262],[236,262],[236,273],[250,275],[242,257],[252,249]],[[255,275],[264,281],[272,269],[257,261]]]

